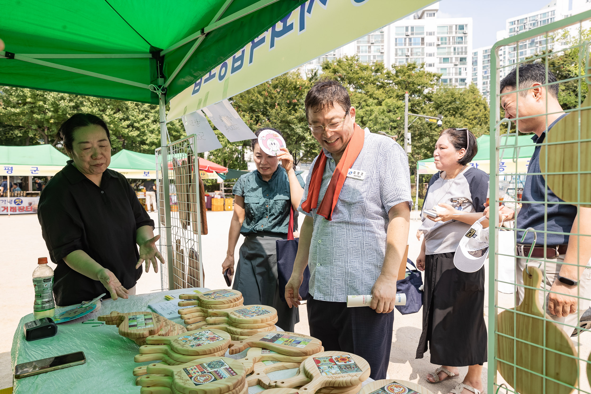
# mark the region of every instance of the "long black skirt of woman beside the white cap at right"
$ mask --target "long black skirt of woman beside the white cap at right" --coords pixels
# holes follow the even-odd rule
[[[423,333],[417,359],[428,349],[431,363],[464,367],[486,362],[484,267],[462,272],[455,252],[425,256]]]

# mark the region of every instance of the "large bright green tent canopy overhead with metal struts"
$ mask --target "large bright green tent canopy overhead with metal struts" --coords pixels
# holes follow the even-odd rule
[[[2,1],[0,85],[168,101],[303,2]]]

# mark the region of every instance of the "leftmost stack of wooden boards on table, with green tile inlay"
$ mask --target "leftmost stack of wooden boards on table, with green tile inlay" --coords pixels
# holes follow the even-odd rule
[[[185,333],[183,325],[174,323],[154,312],[126,312],[112,311],[111,314],[97,318],[108,325],[116,325],[119,335],[127,337],[139,346],[147,344],[148,336],[167,337]],[[164,344],[163,342],[159,342]]]

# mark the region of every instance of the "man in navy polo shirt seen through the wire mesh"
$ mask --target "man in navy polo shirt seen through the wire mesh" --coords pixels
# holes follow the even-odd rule
[[[550,70],[546,71],[543,63],[522,64],[519,66],[518,86],[519,89],[530,89],[501,96],[501,106],[505,109],[505,117],[514,119],[519,116],[519,132],[535,133],[532,140],[536,144],[541,144],[544,141],[546,133],[550,132],[560,119],[569,116],[564,113],[558,103],[558,83],[543,86],[546,83],[546,72],[548,73],[548,83],[557,81]],[[516,84],[516,70],[513,69],[501,81],[501,93],[517,90]],[[519,99],[517,95],[519,95]],[[519,111],[517,111],[518,107]],[[522,119],[526,116],[533,117]],[[576,114],[570,116],[576,116]],[[541,145],[535,147],[528,165],[528,174],[541,172],[540,148]],[[589,298],[591,295],[591,268],[587,266],[587,262],[591,258],[591,237],[583,236],[578,239],[579,237],[575,236],[546,233],[544,242],[544,231],[591,235],[591,208],[580,207],[577,211],[577,207],[573,205],[551,204],[562,200],[550,188],[547,188],[542,175],[527,175],[522,201],[545,201],[546,190],[549,204],[524,202],[521,210],[518,211],[516,227],[521,230],[517,230],[517,242],[521,242],[524,229],[533,227],[536,230],[537,243],[531,256],[543,259],[545,248],[547,259],[540,267],[545,271],[544,280],[540,285],[545,291],[540,292],[540,302],[541,304],[545,302],[548,314],[554,321],[561,323],[561,328],[567,334],[573,333],[574,335],[577,331],[573,332],[573,329],[577,327],[580,315],[589,308],[589,300],[583,298]],[[545,210],[547,211],[547,220],[544,222]],[[508,216],[508,219],[505,220],[512,220],[515,214],[514,210],[505,206],[501,206],[501,212]],[[579,220],[580,226],[577,226]],[[547,227],[545,228],[545,226]],[[527,257],[532,243],[534,243],[534,233],[530,231],[524,242],[517,244],[517,255]],[[579,252],[578,261],[577,252]],[[538,264],[540,261],[531,260],[528,262],[526,258],[517,258],[518,284],[523,284],[522,274],[525,266],[538,266]],[[577,295],[582,298],[577,299]],[[517,304],[521,303],[523,297],[524,288],[519,286]]]

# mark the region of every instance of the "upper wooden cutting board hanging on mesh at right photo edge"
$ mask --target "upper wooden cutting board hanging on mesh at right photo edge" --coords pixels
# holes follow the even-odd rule
[[[591,95],[581,103],[581,108],[591,106]],[[579,137],[580,120],[580,137]],[[546,134],[544,142],[574,141],[591,138],[591,110],[573,112],[560,119]],[[548,188],[564,201],[581,201],[582,207],[589,207],[591,201],[591,174],[577,172],[591,171],[591,142],[571,142],[570,144],[542,145],[540,148],[541,172],[574,172],[573,174],[543,175]],[[546,159],[548,167],[546,171]],[[580,159],[580,168],[579,168]],[[580,191],[580,200],[579,200]]]

